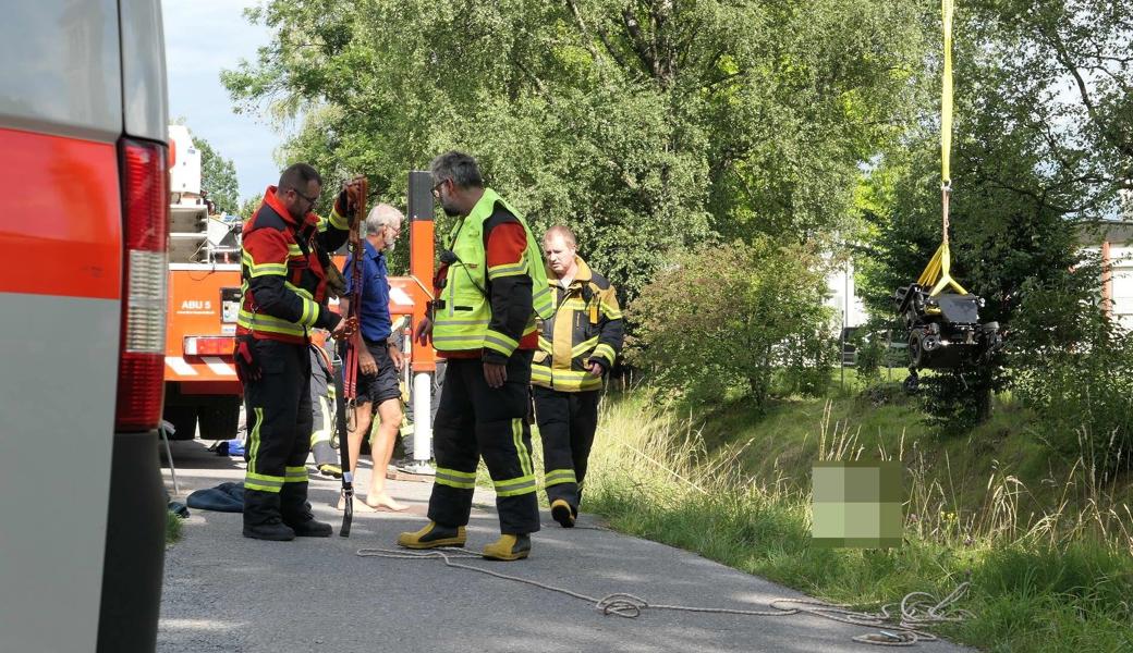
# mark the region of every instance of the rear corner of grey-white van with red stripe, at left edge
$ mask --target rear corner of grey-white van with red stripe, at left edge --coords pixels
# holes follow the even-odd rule
[[[152,650],[165,301],[159,0],[0,20],[0,650]]]

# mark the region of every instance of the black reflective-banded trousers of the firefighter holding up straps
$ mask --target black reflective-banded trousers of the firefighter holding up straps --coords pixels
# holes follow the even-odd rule
[[[286,502],[306,502],[312,431],[307,345],[257,340],[254,346],[263,376],[244,384],[248,416],[248,441],[244,448],[248,462],[244,478],[245,523],[270,518],[279,506],[278,499],[270,495],[280,495],[284,484],[288,486],[283,492]]]

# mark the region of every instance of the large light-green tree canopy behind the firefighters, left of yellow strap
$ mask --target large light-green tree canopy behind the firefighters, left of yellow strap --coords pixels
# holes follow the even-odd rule
[[[274,0],[240,110],[298,123],[288,161],[407,171],[459,148],[536,229],[636,294],[674,248],[844,227],[901,135],[923,51],[908,0]],[[852,29],[847,26],[853,26]]]

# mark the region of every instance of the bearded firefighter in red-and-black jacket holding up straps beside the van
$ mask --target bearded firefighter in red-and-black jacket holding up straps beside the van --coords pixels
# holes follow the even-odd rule
[[[347,335],[326,306],[326,251],[349,237],[348,215],[360,186],[339,194],[330,218],[314,213],[323,180],[297,163],[244,226],[242,303],[236,328],[236,364],[248,415],[248,469],[244,480],[244,535],[258,540],[326,538],[307,504],[310,449],[310,329]],[[320,252],[320,247],[322,252]]]

